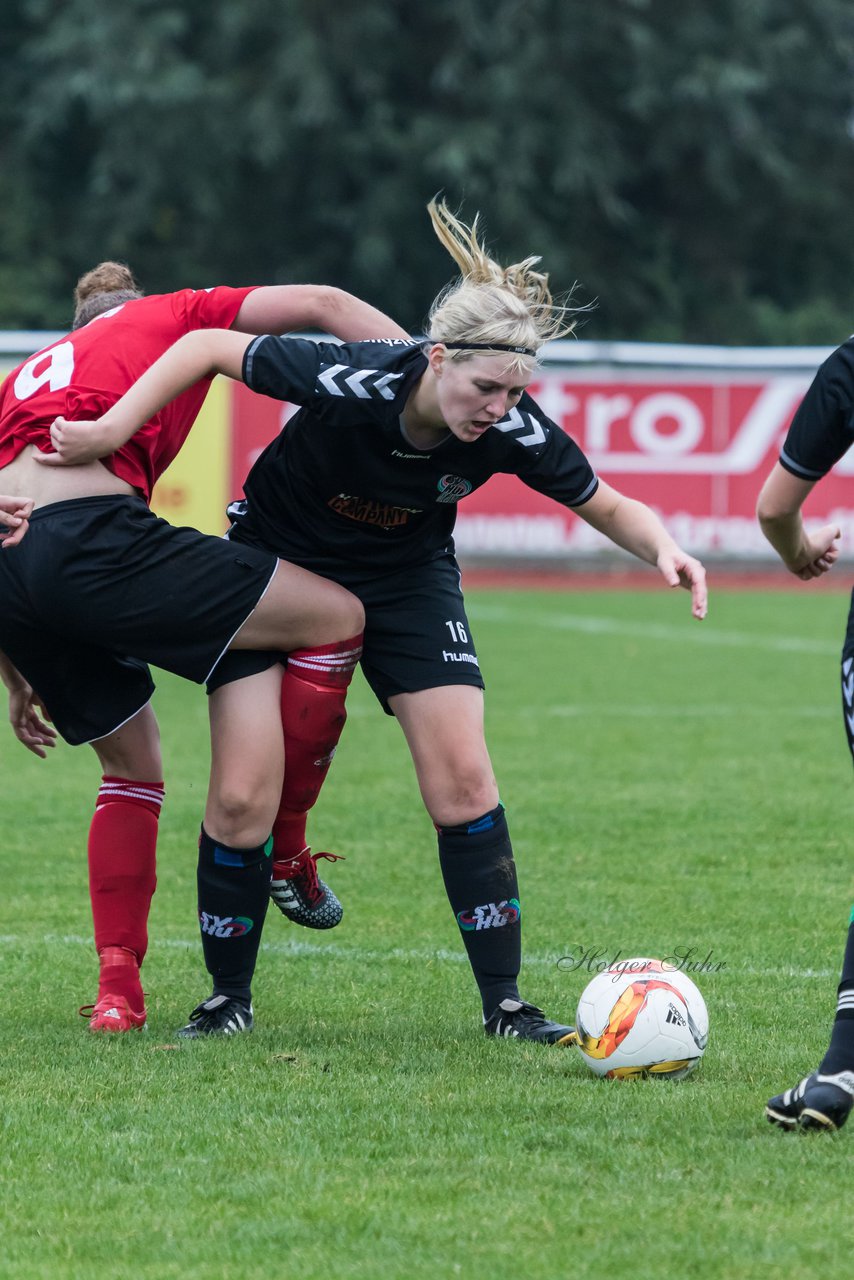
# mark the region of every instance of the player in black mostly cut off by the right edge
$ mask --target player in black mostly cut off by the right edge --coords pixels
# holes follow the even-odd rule
[[[834,567],[840,530],[807,534],[807,495],[854,443],[854,338],[821,366],[766,480],[757,515],[762,531],[795,577],[808,582]],[[854,755],[854,596],[842,646],[842,722]],[[818,1070],[771,1098],[766,1115],[781,1129],[841,1128],[854,1105],[854,909],[839,983],[831,1041]]]

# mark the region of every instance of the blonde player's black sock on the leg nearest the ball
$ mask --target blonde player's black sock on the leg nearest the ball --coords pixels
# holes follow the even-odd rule
[[[503,805],[438,832],[444,887],[488,1018],[506,997],[519,1000],[522,959],[516,863]]]

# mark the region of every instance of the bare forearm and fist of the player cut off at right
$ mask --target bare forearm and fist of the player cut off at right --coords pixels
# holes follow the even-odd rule
[[[762,532],[789,572],[804,582],[834,567],[841,536],[837,525],[822,525],[814,534],[804,529],[802,507],[814,486],[814,480],[802,480],[776,462],[757,502]]]

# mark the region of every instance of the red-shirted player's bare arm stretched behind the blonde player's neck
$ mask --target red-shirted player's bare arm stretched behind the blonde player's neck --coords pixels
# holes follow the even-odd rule
[[[329,284],[269,284],[252,289],[232,329],[255,334],[321,329],[342,342],[408,338],[405,329],[376,307]]]

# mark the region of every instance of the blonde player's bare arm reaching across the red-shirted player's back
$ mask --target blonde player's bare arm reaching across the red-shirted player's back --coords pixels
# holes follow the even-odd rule
[[[227,374],[241,379],[243,355],[252,342],[230,329],[195,329],[169,347],[154,365],[93,422],[69,422],[58,417],[50,429],[55,453],[36,451],[45,467],[69,466],[105,458],[131,439],[164,404],[181,396],[201,378]]]

